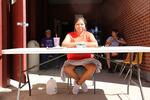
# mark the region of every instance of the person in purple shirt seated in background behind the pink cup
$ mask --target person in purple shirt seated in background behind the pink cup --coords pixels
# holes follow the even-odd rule
[[[46,30],[45,31],[45,37],[41,40],[41,47],[53,47],[54,46],[54,42],[53,42],[53,38],[51,37],[51,30]],[[41,63],[49,60],[50,58],[50,54],[41,54]],[[40,69],[47,69],[48,68],[48,63],[43,64],[40,66]]]

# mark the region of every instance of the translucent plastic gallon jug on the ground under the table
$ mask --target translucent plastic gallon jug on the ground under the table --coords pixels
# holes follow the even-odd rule
[[[46,93],[47,94],[56,94],[57,93],[57,83],[53,78],[50,78],[46,84]]]

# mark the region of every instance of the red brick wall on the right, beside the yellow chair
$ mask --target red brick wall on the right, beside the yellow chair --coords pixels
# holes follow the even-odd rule
[[[121,0],[119,30],[129,45],[150,46],[150,0]],[[142,69],[150,71],[150,53],[143,57]]]

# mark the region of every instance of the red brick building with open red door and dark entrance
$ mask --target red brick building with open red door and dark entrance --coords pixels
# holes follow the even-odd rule
[[[26,47],[28,41],[39,41],[45,29],[53,34],[72,30],[73,17],[82,14],[88,25],[102,28],[105,41],[112,28],[125,36],[128,45],[150,46],[150,0],[0,0],[0,52],[2,49]],[[16,2],[15,2],[16,1]],[[19,27],[17,22],[28,22]],[[68,27],[68,28],[66,28]],[[63,33],[64,32],[64,33]],[[26,55],[24,68],[26,67]],[[18,78],[16,56],[0,55],[0,86]],[[141,66],[143,78],[150,80],[150,53]]]

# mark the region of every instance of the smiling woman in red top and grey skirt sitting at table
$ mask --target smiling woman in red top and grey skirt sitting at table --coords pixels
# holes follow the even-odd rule
[[[66,35],[62,42],[62,47],[76,48],[78,44],[84,45],[84,47],[98,47],[98,43],[93,34],[86,31],[86,21],[83,16],[75,18],[74,32],[70,32]],[[75,72],[75,68],[83,66],[85,71],[82,75]],[[67,60],[61,69],[61,78],[65,81],[65,76],[75,79],[74,87],[72,89],[73,94],[78,94],[81,86],[83,92],[87,92],[88,88],[85,84],[87,79],[90,79],[95,71],[100,72],[101,63],[93,58],[92,54],[67,54]]]

